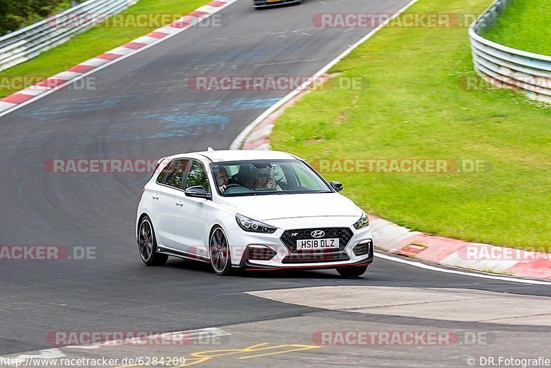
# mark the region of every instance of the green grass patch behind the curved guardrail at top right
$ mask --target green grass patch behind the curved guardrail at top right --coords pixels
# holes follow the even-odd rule
[[[484,37],[519,50],[551,55],[551,1],[514,0]]]

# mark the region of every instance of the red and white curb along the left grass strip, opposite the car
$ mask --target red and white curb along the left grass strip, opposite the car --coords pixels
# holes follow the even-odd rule
[[[138,37],[133,41],[129,41],[124,45],[114,48],[113,50],[104,52],[103,54],[90,60],[83,61],[79,65],[75,65],[64,72],[50,76],[50,78],[41,81],[37,85],[32,85],[29,88],[10,94],[10,96],[0,99],[0,116],[6,115],[14,110],[17,110],[17,108],[20,108],[23,105],[27,105],[28,103],[40,99],[47,94],[64,88],[70,83],[103,69],[108,65],[126,59],[127,57],[131,57],[132,55],[152,47],[157,43],[165,41],[166,39],[169,39],[170,37],[193,27],[197,23],[200,23],[212,14],[215,14],[236,1],[237,0],[211,1],[207,5],[197,8],[193,12],[190,12],[180,19],[173,21],[169,25],[158,28],[153,32],[149,32],[145,36]]]

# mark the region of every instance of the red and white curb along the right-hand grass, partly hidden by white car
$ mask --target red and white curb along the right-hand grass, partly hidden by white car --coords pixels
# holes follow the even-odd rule
[[[413,0],[408,3],[394,17],[404,12],[416,1]],[[391,19],[388,21],[391,21]],[[322,68],[314,76],[326,78],[326,72],[337,61],[340,61],[354,48],[369,39],[384,25],[385,23],[367,34],[366,37],[333,59],[331,63]],[[273,130],[275,121],[286,108],[296,103],[304,95],[306,87],[307,85],[301,85],[297,90],[287,94],[278,103],[275,103],[275,105],[258,116],[233,141],[230,147],[231,150],[270,150],[269,135]],[[549,253],[530,252],[523,249],[497,247],[495,245],[470,243],[441,236],[430,236],[422,232],[413,232],[406,227],[399,226],[382,218],[375,216],[369,216],[369,218],[371,228],[373,229],[373,237],[375,238],[375,246],[386,252],[451,267],[461,267],[475,271],[506,274],[523,278],[551,280],[551,254]]]

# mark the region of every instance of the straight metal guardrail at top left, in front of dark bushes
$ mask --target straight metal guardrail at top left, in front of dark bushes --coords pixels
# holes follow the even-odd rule
[[[137,0],[88,0],[65,12],[0,37],[0,71],[36,57]],[[100,16],[101,15],[101,16]],[[63,23],[65,22],[65,23]]]

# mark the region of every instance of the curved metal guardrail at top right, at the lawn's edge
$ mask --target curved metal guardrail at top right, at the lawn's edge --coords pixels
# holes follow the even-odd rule
[[[493,85],[523,91],[530,99],[551,103],[551,57],[508,48],[481,37],[495,25],[512,0],[496,0],[469,28],[472,59],[478,74]],[[542,40],[542,42],[547,40]]]

